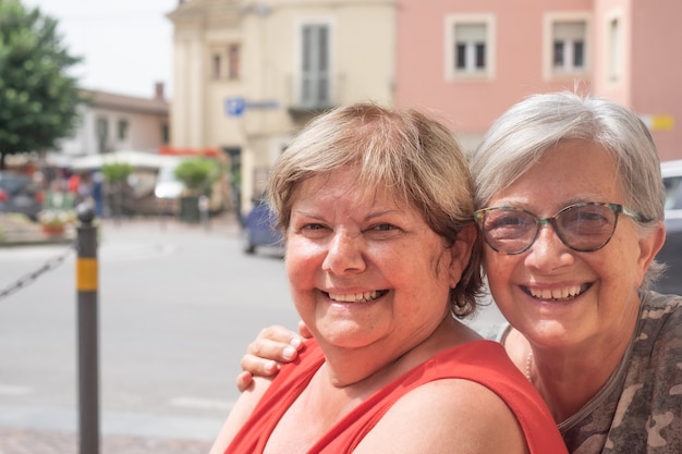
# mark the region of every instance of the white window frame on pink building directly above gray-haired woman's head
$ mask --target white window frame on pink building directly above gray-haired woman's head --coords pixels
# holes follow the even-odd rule
[[[585,25],[582,68],[573,66],[572,63],[561,69],[555,66],[555,25],[561,23],[583,23]],[[586,77],[589,75],[589,62],[592,58],[592,14],[589,12],[555,12],[547,13],[543,24],[543,76],[546,81],[563,78]],[[570,41],[569,41],[570,44]],[[567,49],[567,60],[572,60],[572,47]]]

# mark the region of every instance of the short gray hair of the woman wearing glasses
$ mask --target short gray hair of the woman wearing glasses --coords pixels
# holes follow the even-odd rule
[[[583,139],[609,150],[625,204],[651,221],[663,219],[665,187],[656,145],[631,110],[607,99],[570,91],[533,95],[510,108],[488,130],[471,157],[476,209],[521,177],[561,140]],[[643,231],[646,225],[643,224]],[[643,287],[662,267],[653,262]]]

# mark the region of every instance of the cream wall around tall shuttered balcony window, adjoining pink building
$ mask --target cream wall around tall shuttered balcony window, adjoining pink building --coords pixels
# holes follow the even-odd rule
[[[243,16],[243,127],[247,145],[244,205],[259,196],[263,175],[305,124],[289,109],[297,106],[301,27],[329,26],[331,105],[357,100],[392,103],[394,71],[393,3],[387,1],[270,1],[267,11]],[[253,107],[249,107],[253,106]],[[275,107],[277,106],[277,107]]]

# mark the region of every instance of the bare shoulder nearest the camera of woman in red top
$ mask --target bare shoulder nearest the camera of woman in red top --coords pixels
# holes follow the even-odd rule
[[[468,380],[426,383],[399,400],[354,451],[365,453],[527,453],[507,404]]]

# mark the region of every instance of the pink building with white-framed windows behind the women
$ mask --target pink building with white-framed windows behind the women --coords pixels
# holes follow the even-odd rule
[[[400,0],[395,101],[447,115],[467,147],[523,97],[577,89],[649,125],[682,158],[680,0]]]

